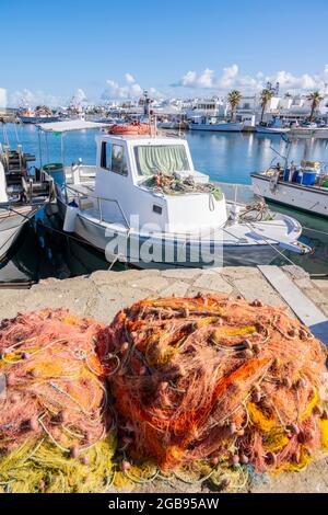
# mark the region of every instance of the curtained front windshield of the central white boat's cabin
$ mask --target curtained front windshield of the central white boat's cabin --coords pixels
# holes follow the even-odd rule
[[[184,145],[138,145],[134,147],[139,175],[155,175],[190,170]]]

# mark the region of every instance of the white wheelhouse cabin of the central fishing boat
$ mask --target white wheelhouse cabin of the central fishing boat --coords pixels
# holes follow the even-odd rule
[[[136,221],[139,227],[154,225],[175,232],[225,224],[224,196],[215,199],[207,191],[209,178],[195,170],[186,140],[102,133],[96,144],[94,193],[104,220],[125,224],[130,219],[131,226]],[[166,180],[188,179],[190,187],[166,192],[156,187],[161,174]]]

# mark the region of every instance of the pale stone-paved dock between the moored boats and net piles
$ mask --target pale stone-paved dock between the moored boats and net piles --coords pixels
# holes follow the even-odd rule
[[[242,295],[272,306],[285,306],[328,345],[328,281],[313,281],[297,266],[178,268],[166,271],[97,271],[89,276],[48,278],[28,290],[2,289],[0,319],[43,308],[69,308],[81,316],[109,323],[121,308],[142,298],[192,296],[197,293]],[[199,491],[184,483],[154,483],[148,491]],[[328,492],[328,458],[303,472],[289,472],[253,492]]]

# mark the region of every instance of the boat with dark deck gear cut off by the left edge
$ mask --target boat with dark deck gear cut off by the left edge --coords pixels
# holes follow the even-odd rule
[[[28,163],[35,157],[22,146],[12,150],[0,144],[0,266],[7,263],[25,224],[50,198],[51,179]]]

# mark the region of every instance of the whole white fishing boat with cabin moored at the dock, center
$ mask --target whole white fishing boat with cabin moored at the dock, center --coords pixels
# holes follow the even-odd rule
[[[55,184],[63,229],[107,261],[139,268],[257,265],[286,249],[311,252],[293,218],[226,202],[195,170],[185,139],[110,133],[96,136],[93,170],[79,161]]]

